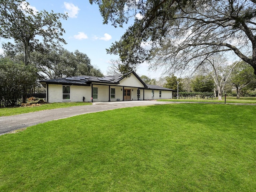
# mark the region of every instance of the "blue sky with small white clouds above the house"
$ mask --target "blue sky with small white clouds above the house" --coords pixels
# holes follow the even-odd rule
[[[124,28],[114,28],[110,23],[103,25],[98,6],[91,5],[89,0],[27,0],[27,2],[38,11],[68,12],[68,20],[62,20],[62,26],[66,31],[63,38],[67,42],[64,48],[71,52],[79,50],[87,54],[91,64],[97,66],[106,75],[108,62],[111,59],[118,59],[118,56],[106,54],[106,48],[120,39],[128,25],[124,25]],[[1,39],[0,43],[3,41]],[[147,64],[141,64],[137,74],[160,78],[160,74],[148,71]]]

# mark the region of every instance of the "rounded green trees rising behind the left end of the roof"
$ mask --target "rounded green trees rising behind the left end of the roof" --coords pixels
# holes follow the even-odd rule
[[[99,69],[90,64],[90,58],[76,50],[74,53],[62,47],[51,46],[45,52],[33,52],[32,62],[38,66],[44,79],[66,76],[89,75],[101,77]]]

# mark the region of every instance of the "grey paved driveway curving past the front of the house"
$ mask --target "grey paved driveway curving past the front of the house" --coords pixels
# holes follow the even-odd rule
[[[121,102],[94,102],[93,105],[74,106],[68,108],[58,108],[51,110],[43,110],[38,112],[4,116],[0,117],[0,135],[12,132],[17,129],[26,128],[39,123],[44,123],[52,120],[63,119],[76,115],[94,113],[117,108],[126,108],[134,106],[148,106],[170,104],[170,102],[157,101],[121,101]]]

